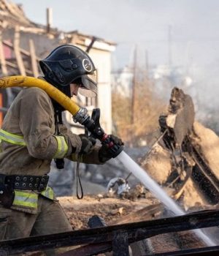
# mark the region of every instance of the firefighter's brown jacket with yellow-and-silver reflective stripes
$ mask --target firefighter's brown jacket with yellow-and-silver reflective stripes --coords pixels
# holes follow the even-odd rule
[[[50,172],[52,159],[77,159],[81,140],[64,125],[55,135],[53,103],[45,91],[26,88],[20,91],[10,106],[0,130],[0,173],[9,175],[44,176]],[[72,148],[74,154],[72,154]],[[82,162],[100,164],[99,147],[95,146]],[[53,190],[43,192],[15,190],[13,209],[37,213],[39,194],[54,200]]]

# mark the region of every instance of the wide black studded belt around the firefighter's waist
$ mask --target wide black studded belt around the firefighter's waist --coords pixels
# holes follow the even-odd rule
[[[49,176],[9,175],[4,183],[12,189],[30,189],[42,192],[47,188]]]

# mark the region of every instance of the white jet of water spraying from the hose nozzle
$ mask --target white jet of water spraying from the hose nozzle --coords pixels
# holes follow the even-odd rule
[[[183,211],[180,206],[177,205],[177,203],[172,200],[169,195],[166,194],[164,189],[162,189],[154,180],[151,178],[145,170],[142,169],[136,162],[134,162],[131,157],[126,154],[126,152],[122,151],[117,159],[120,160],[120,162],[123,163],[123,165],[133,173],[133,175],[141,181],[142,184],[147,187],[147,189],[150,190],[150,192],[157,197],[161,203],[164,203],[164,206],[171,210],[175,215],[183,215],[185,214],[185,211]],[[193,230],[194,233],[196,233],[199,238],[201,238],[202,241],[204,241],[207,246],[215,246],[216,244],[210,239],[207,235],[205,235],[202,230]]]

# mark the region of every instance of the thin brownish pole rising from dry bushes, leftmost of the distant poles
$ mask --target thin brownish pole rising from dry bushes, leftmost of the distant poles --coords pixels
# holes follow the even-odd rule
[[[132,79],[132,94],[131,94],[131,124],[134,124],[135,104],[136,104],[136,88],[137,87],[137,46],[134,48],[133,61],[133,79]]]

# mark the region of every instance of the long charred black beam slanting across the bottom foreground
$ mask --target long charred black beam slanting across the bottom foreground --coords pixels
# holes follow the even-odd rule
[[[193,230],[219,225],[219,211],[201,211],[180,217],[156,219],[148,222],[134,222],[111,227],[99,227],[90,230],[77,230],[47,236],[19,238],[0,242],[0,255],[74,246],[112,242],[115,232],[126,232],[128,243],[162,233]]]

